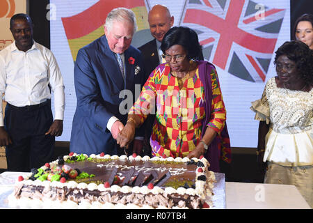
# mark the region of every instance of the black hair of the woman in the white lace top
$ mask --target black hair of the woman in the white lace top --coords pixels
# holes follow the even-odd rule
[[[300,40],[284,42],[275,54],[274,64],[277,63],[278,57],[286,55],[289,60],[296,63],[300,76],[305,82],[313,84],[313,54],[312,50],[305,43]]]

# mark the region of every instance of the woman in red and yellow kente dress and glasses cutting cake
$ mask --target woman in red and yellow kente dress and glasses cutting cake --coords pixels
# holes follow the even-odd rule
[[[135,128],[143,124],[151,107],[157,113],[150,145],[153,156],[204,157],[211,171],[220,171],[220,160],[230,162],[226,110],[215,67],[197,61],[202,50],[198,35],[188,27],[172,27],[161,49],[166,63],[152,71],[140,97],[129,110],[128,121],[117,142],[126,146]]]

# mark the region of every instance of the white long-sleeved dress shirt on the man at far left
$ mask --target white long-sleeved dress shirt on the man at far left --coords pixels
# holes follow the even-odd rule
[[[51,99],[54,92],[54,119],[64,118],[65,93],[61,71],[52,52],[33,42],[26,52],[15,42],[0,51],[0,93],[3,100],[16,107],[38,105]],[[0,126],[3,111],[0,106]]]

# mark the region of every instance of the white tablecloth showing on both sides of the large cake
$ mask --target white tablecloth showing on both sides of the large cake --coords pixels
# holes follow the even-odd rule
[[[20,175],[26,176],[29,173],[0,174],[0,197],[1,194],[7,196],[13,191],[13,185]],[[310,209],[294,185],[226,182],[225,193],[222,192],[223,186],[218,187],[220,189],[215,199],[225,200],[222,206],[218,204],[221,208],[225,206],[227,209]]]

